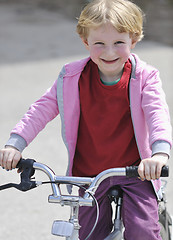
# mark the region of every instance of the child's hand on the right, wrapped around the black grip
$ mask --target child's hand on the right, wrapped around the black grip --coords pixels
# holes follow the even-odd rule
[[[138,168],[141,180],[154,180],[160,178],[161,169],[166,165],[167,160],[168,155],[165,153],[157,153],[151,158],[143,159]]]

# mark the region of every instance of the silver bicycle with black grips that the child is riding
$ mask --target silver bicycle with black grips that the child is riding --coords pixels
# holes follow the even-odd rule
[[[135,177],[138,176],[137,167],[126,167],[126,168],[113,168],[101,172],[95,178],[90,177],[70,177],[70,176],[56,176],[52,169],[42,163],[38,163],[32,159],[21,159],[17,165],[17,168],[21,171],[21,182],[19,184],[9,183],[0,186],[0,190],[14,187],[20,191],[28,191],[42,184],[51,184],[52,195],[49,196],[49,203],[59,203],[61,206],[70,206],[71,213],[69,221],[59,221],[56,220],[52,226],[52,234],[56,236],[65,237],[66,240],[78,240],[79,239],[79,221],[78,221],[78,212],[80,206],[92,207],[96,205],[97,207],[97,217],[95,224],[86,237],[87,240],[92,232],[94,231],[98,216],[99,216],[99,206],[97,200],[94,197],[94,194],[99,186],[99,184],[108,177],[112,176],[127,176]],[[41,170],[44,172],[49,181],[40,182],[33,181],[33,175],[35,170]],[[168,167],[164,166],[162,169],[161,176],[168,176]],[[79,188],[85,190],[83,197],[78,195],[62,195],[60,185],[75,185]],[[88,188],[86,188],[86,186]],[[164,185],[166,187],[166,184]],[[166,208],[166,195],[163,192],[163,199],[159,203],[159,223],[161,225],[161,236],[163,240],[171,240],[171,227],[172,220],[167,212]],[[108,197],[110,202],[115,204],[115,213],[114,213],[114,227],[112,232],[105,238],[105,240],[122,240],[123,239],[123,223],[121,219],[121,207],[123,201],[122,190],[115,186],[108,191]]]

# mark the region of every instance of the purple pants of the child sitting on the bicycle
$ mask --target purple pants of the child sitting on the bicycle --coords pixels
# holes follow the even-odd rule
[[[150,181],[138,178],[110,177],[96,191],[100,216],[89,240],[103,240],[112,230],[112,210],[107,191],[119,185],[123,192],[122,217],[125,240],[161,240],[158,224],[158,203]],[[80,191],[82,194],[82,191]],[[80,240],[90,233],[96,219],[95,207],[81,207],[79,211]]]

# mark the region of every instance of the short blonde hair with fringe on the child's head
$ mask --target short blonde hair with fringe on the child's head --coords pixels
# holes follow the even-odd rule
[[[110,22],[120,32],[128,32],[133,41],[143,38],[143,12],[128,0],[93,0],[80,14],[77,33],[87,39],[90,28]]]

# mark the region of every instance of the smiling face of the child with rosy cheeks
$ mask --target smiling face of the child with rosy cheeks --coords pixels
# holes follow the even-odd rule
[[[112,24],[106,23],[98,28],[91,28],[87,40],[83,39],[90,57],[103,77],[119,78],[130,51],[132,43],[129,33],[119,33]]]

